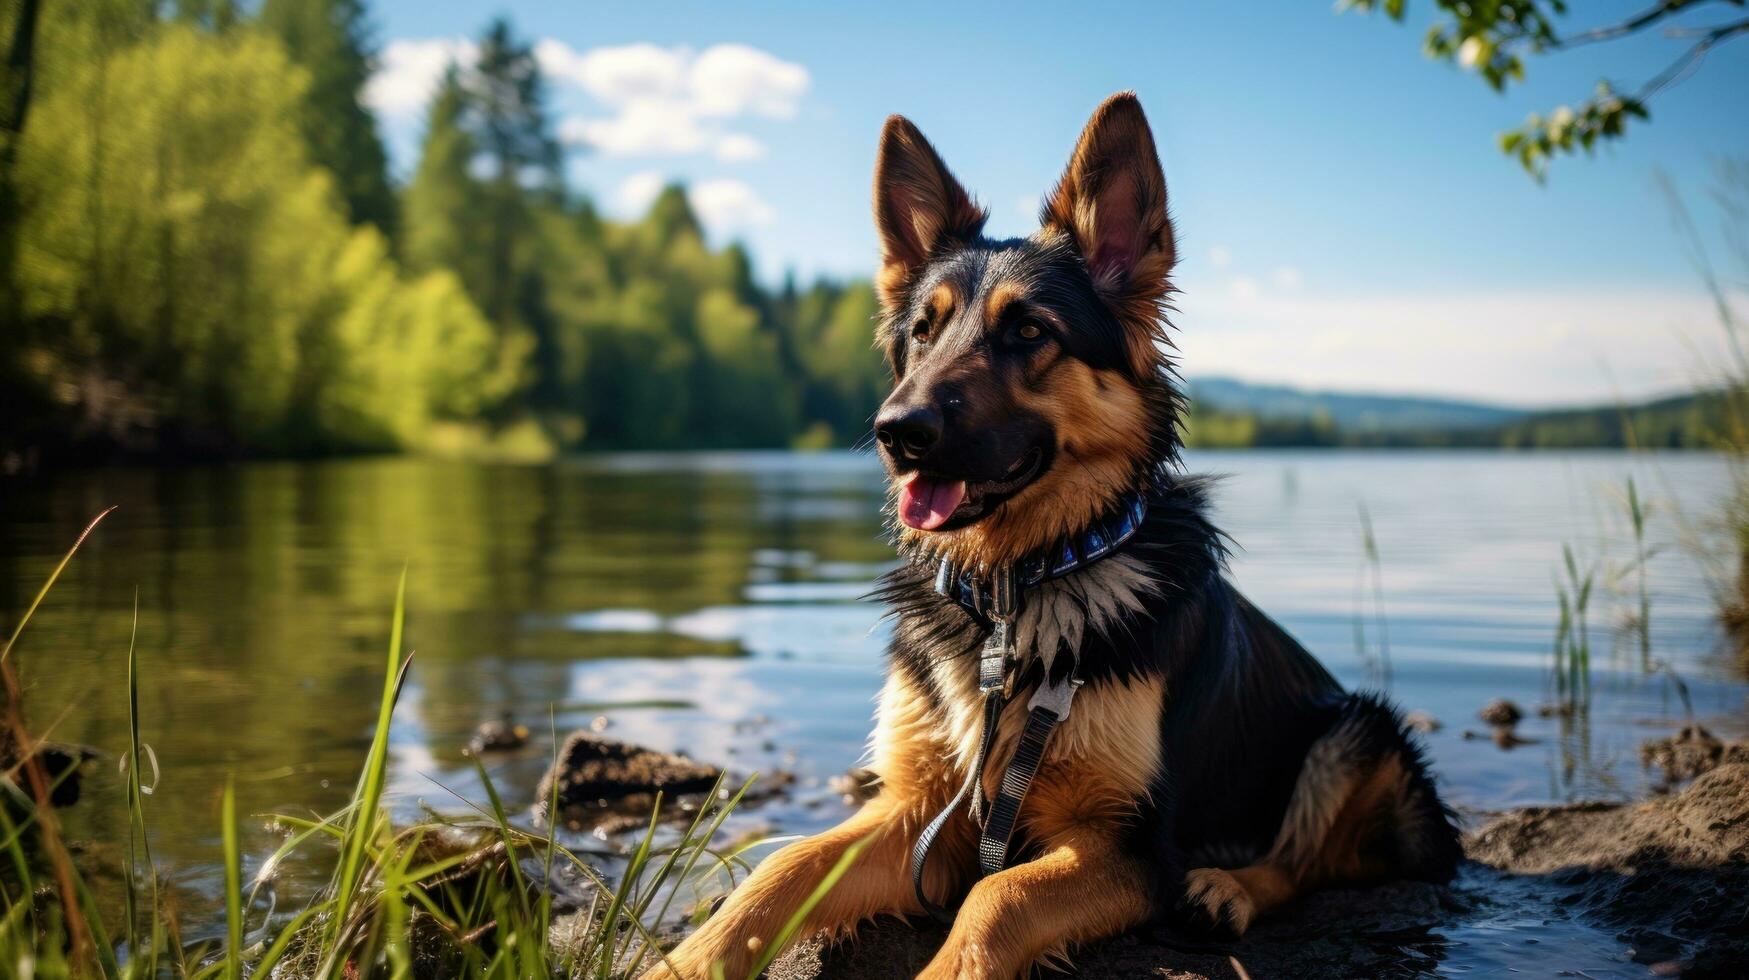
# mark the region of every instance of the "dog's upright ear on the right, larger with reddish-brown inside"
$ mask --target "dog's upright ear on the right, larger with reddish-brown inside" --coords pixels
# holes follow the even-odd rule
[[[1135,93],[1107,98],[1088,119],[1039,222],[1076,243],[1093,285],[1132,327],[1137,371],[1151,369],[1177,245],[1167,217],[1167,175]]]

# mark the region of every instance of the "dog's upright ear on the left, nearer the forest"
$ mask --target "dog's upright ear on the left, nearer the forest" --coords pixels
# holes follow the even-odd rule
[[[937,248],[978,238],[986,217],[923,133],[904,116],[888,116],[874,161],[881,303],[897,306],[916,270]]]

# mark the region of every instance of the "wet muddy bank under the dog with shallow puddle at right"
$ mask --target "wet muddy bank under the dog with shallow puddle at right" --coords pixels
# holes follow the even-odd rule
[[[1749,975],[1749,765],[1718,765],[1646,803],[1518,810],[1464,847],[1469,861],[1446,887],[1326,891],[1244,942],[1189,947],[1140,931],[1084,948],[1074,964],[1081,976],[1221,980],[1401,976],[1443,961],[1480,975],[1597,975],[1581,961],[1623,976]],[[909,978],[941,938],[937,928],[881,920],[852,943],[803,945],[770,976]]]

